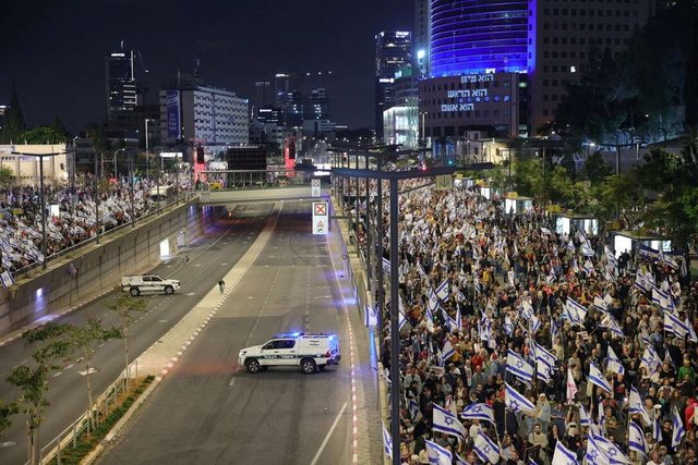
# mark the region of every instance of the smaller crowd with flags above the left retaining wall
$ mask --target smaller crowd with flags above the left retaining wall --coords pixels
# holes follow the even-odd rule
[[[41,253],[41,207],[38,186],[16,186],[0,192],[0,269],[12,274],[27,269],[52,255],[75,246],[108,230],[129,223],[131,216],[143,217],[157,208],[151,196],[155,180],[140,180],[133,186],[133,205],[128,180],[97,188],[92,179],[71,185],[47,184],[46,255]],[[161,180],[161,186],[173,186],[173,176]],[[189,180],[180,189],[189,188]],[[98,213],[98,216],[97,216]]]

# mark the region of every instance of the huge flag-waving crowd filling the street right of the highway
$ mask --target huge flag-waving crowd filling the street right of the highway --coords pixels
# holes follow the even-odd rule
[[[696,463],[698,285],[681,258],[558,233],[476,188],[399,209],[399,380],[387,325],[381,358],[401,463]]]

